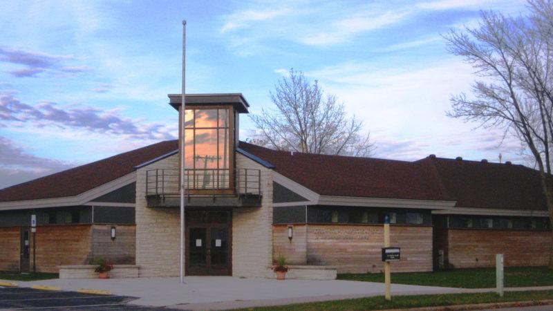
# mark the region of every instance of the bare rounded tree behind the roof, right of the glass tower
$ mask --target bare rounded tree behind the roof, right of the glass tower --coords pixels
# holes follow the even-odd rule
[[[362,134],[363,122],[348,117],[344,104],[324,96],[317,80],[310,83],[301,71],[290,70],[270,93],[276,110],[251,115],[257,131],[253,141],[277,150],[370,156],[370,134]]]

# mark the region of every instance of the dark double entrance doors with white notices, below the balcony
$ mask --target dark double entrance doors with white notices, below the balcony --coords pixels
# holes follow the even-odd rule
[[[187,211],[187,275],[231,275],[230,211]]]

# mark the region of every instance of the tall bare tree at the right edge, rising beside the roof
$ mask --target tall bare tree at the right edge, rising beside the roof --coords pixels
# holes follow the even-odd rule
[[[532,155],[553,220],[553,1],[529,1],[529,15],[482,12],[477,28],[451,30],[449,51],[476,68],[473,98],[451,97],[451,117],[499,126]],[[550,254],[553,267],[553,248]]]

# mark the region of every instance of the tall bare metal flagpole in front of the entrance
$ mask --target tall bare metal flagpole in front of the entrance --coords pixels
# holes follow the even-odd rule
[[[186,88],[186,21],[182,21],[182,97],[180,124],[180,283],[185,283],[185,88]]]

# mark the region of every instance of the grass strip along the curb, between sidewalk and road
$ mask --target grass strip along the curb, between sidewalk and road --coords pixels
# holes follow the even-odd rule
[[[500,303],[509,301],[538,301],[553,299],[553,290],[539,292],[505,292],[501,298],[494,293],[482,294],[441,294],[396,296],[392,301],[384,300],[384,296],[323,301],[317,303],[298,303],[295,305],[281,305],[244,310],[383,310],[431,307],[439,305],[464,305],[469,303]]]

